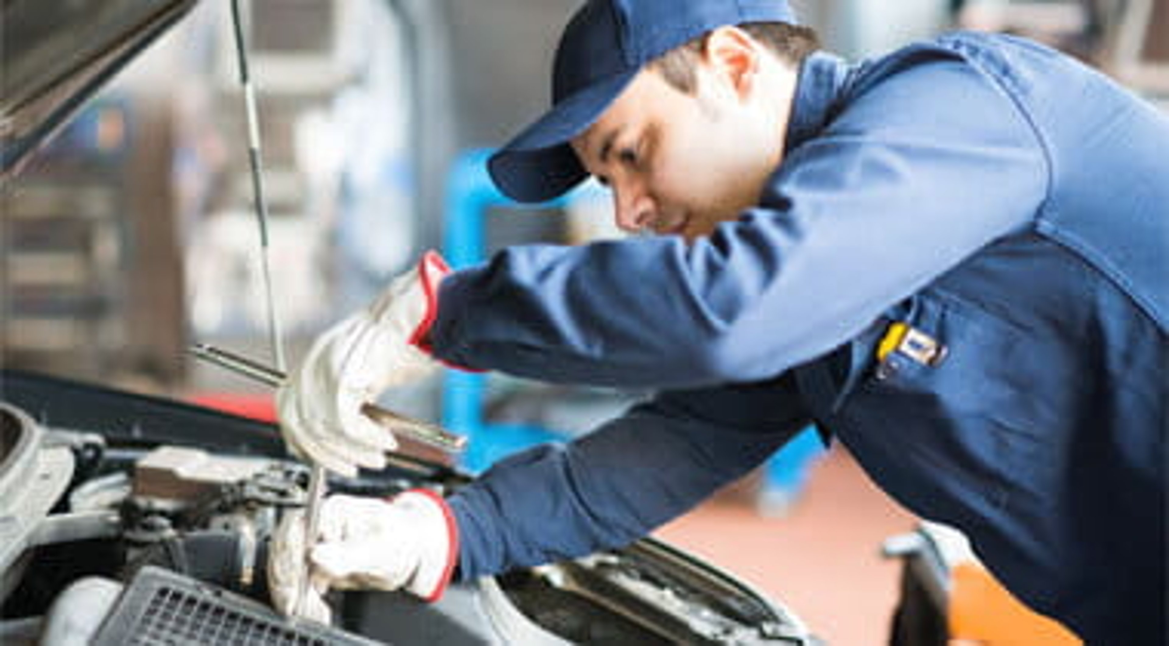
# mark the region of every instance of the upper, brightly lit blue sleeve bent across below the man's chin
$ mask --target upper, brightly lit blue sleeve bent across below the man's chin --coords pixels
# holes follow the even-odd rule
[[[514,246],[456,272],[431,331],[449,362],[678,389],[777,375],[1028,224],[1047,164],[997,85],[956,60],[856,90],[790,151],[759,208],[708,238]]]

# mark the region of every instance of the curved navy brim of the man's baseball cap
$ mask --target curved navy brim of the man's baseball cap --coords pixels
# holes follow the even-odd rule
[[[517,202],[559,197],[588,176],[568,141],[588,130],[637,70],[618,74],[558,103],[487,160],[499,192]]]

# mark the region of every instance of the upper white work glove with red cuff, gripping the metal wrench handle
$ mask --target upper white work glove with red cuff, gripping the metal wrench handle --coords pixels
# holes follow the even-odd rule
[[[358,466],[386,466],[385,452],[397,443],[361,407],[440,366],[421,343],[448,273],[442,257],[428,252],[368,307],[317,338],[276,394],[281,431],[293,453],[348,477]]]

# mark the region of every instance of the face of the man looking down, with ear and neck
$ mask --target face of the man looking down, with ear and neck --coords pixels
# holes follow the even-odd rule
[[[759,102],[708,69],[694,95],[644,69],[596,123],[573,139],[584,167],[614,194],[624,230],[692,241],[754,206],[779,164]]]

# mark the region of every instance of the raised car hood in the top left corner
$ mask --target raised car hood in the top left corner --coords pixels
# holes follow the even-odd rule
[[[4,0],[0,179],[195,0]]]

